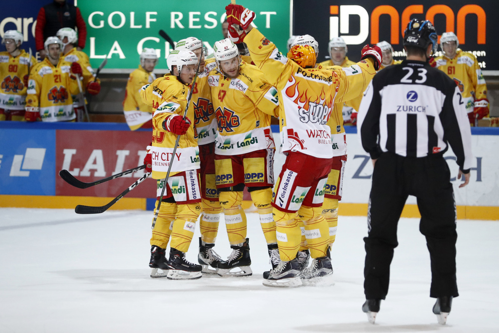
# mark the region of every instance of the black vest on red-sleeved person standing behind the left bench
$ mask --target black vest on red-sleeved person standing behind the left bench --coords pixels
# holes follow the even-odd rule
[[[55,36],[60,28],[76,27],[76,7],[67,3],[60,5],[57,2],[43,6],[45,9],[45,27],[43,29],[43,40]]]

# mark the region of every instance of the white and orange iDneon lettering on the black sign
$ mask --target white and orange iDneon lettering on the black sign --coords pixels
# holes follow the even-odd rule
[[[401,2],[405,5],[405,2]],[[397,8],[396,8],[397,7]],[[359,45],[366,43],[371,33],[371,44],[379,42],[380,16],[390,16],[390,44],[400,44],[400,36],[404,35],[407,23],[415,14],[425,14],[425,19],[435,22],[436,15],[445,15],[446,26],[450,27],[446,31],[456,31],[460,44],[465,44],[467,16],[476,16],[477,19],[477,44],[486,43],[486,21],[487,15],[484,8],[477,4],[466,4],[462,6],[457,14],[445,4],[434,4],[425,8],[422,4],[411,4],[402,8],[402,5],[379,5],[369,12],[360,5],[330,5],[329,6],[329,39],[341,37],[345,43]],[[358,19],[352,19],[350,16],[358,16]],[[455,19],[455,17],[457,19]],[[422,17],[421,17],[422,18]],[[358,22],[358,27],[350,26],[350,22]],[[456,29],[455,29],[456,27]],[[358,34],[350,34],[350,30],[359,31]],[[400,33],[402,32],[402,33]],[[438,36],[440,43],[440,35]]]

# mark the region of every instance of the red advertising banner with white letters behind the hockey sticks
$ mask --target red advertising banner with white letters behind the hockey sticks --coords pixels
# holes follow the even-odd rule
[[[151,132],[56,130],[55,143],[55,195],[116,197],[144,170],[78,189],[59,176],[66,169],[82,182],[92,182],[144,164],[146,147],[151,142]],[[156,181],[149,178],[127,194],[130,198],[155,198]]]

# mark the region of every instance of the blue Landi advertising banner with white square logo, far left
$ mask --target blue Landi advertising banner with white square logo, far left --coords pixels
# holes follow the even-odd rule
[[[55,195],[55,130],[0,131],[0,194]]]

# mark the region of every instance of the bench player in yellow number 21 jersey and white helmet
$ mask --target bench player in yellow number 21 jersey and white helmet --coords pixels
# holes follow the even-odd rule
[[[74,121],[71,95],[78,93],[77,77],[72,64],[61,57],[62,41],[48,37],[44,43],[47,56],[31,68],[24,117],[27,121]],[[81,67],[79,68],[81,69]]]

